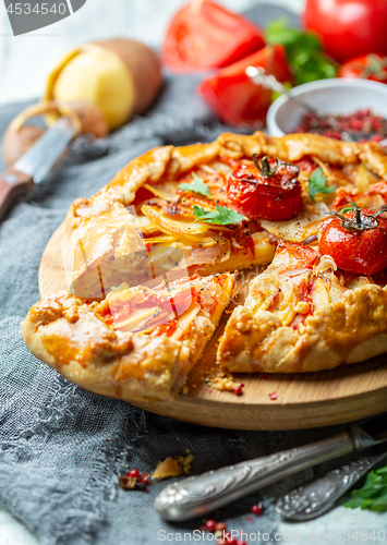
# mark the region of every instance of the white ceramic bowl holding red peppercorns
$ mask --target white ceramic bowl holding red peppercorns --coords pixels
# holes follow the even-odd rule
[[[387,118],[387,85],[384,83],[334,77],[299,85],[292,89],[292,95],[327,113],[353,113],[371,108],[374,113]],[[282,95],[267,112],[267,131],[273,136],[291,133],[304,114],[305,109]]]

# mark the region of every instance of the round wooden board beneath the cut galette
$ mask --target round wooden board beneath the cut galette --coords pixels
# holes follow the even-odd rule
[[[66,289],[61,257],[64,223],[50,239],[40,263],[41,296]],[[165,416],[234,429],[298,429],[350,422],[387,411],[387,354],[332,371],[293,375],[234,375],[243,395],[210,389],[215,353],[229,313],[192,371],[190,392],[173,401],[133,404]],[[277,399],[269,395],[276,392]]]

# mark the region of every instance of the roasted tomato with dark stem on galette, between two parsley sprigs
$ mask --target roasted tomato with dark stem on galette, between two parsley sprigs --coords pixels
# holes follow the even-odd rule
[[[231,207],[247,218],[290,219],[303,208],[300,169],[266,157],[241,165],[230,175],[227,196]]]

